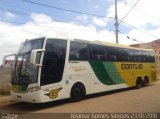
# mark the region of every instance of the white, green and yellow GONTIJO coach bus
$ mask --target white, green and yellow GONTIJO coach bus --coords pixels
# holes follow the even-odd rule
[[[157,81],[155,53],[68,36],[26,40],[15,55],[11,95],[44,103]]]

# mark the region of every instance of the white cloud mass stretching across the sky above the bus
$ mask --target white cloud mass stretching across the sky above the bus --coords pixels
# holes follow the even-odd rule
[[[155,1],[157,3],[154,3]],[[159,35],[160,22],[148,15],[143,15],[139,12],[139,10],[140,11],[144,10],[144,12],[148,14],[151,14],[153,12],[151,15],[156,16],[156,18],[160,18],[160,14],[157,14],[157,11],[160,11],[159,6],[157,5],[159,3],[159,0],[155,1],[153,2],[152,0],[147,0],[144,2],[141,0],[140,3],[136,6],[136,8],[133,11],[131,11],[131,13],[124,19],[124,21],[139,29],[146,30],[150,34],[153,34],[155,36]],[[152,8],[149,7],[151,3],[154,4],[155,7]],[[129,3],[128,5],[132,6],[133,4]],[[122,19],[130,9],[128,5],[118,3],[119,19]],[[10,16],[11,18],[12,15],[8,16]],[[107,9],[106,16],[114,17],[114,5],[110,6],[110,8]],[[21,25],[0,22],[0,26],[1,28],[3,28],[0,29],[0,36],[1,36],[0,62],[2,61],[2,57],[4,55],[15,53],[20,43],[25,41],[25,39],[31,39],[42,36],[52,37],[55,34],[61,32],[66,34],[69,33],[73,37],[79,39],[99,40],[99,41],[115,43],[114,32],[109,31],[108,28],[106,28],[106,26],[109,23],[109,19],[107,18],[93,17],[93,19],[90,20],[86,15],[77,16],[76,20],[86,21],[86,22],[90,21],[90,24],[85,24],[85,25],[77,25],[75,21],[70,23],[56,22],[54,18],[47,16],[45,14],[31,13],[30,18],[31,18],[30,21]],[[150,25],[148,24],[154,27],[150,29],[149,28]],[[96,27],[105,27],[105,29],[97,31]],[[131,38],[135,38],[136,40],[142,42],[149,42],[156,39],[155,37],[137,31],[136,29],[132,29],[124,34],[119,33],[119,43],[127,45],[133,43],[139,43],[132,41],[132,39],[128,39],[127,36],[130,36]]]

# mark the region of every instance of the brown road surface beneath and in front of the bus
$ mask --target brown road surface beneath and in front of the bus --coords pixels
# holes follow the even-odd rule
[[[141,89],[129,88],[90,95],[80,102],[62,100],[45,104],[10,104],[0,106],[0,112],[160,112],[160,81]]]

